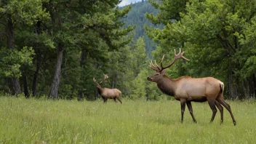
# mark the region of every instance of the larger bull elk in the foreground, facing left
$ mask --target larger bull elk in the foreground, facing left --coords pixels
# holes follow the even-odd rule
[[[183,60],[188,60],[183,57],[184,52],[179,52],[175,58],[172,60],[172,63],[163,67],[162,62],[164,60],[164,56],[161,59],[160,66],[156,63],[150,63],[150,68],[152,68],[156,73],[152,76],[148,77],[148,81],[156,82],[157,87],[167,95],[174,96],[176,100],[180,100],[181,106],[181,122],[183,122],[183,114],[185,111],[185,104],[188,106],[188,110],[191,113],[193,121],[196,123],[196,119],[193,116],[193,109],[191,102],[205,102],[208,101],[209,107],[212,109],[212,122],[215,119],[215,114],[217,113],[217,108],[220,110],[220,124],[223,124],[223,106],[229,111],[231,114],[231,118],[233,120],[233,124],[236,125],[236,120],[233,117],[233,113],[231,111],[230,105],[225,103],[223,99],[223,91],[224,84],[222,81],[212,78],[212,77],[204,77],[193,79],[190,76],[182,76],[177,79],[170,79],[165,75],[166,68],[175,63],[175,61],[179,58]],[[223,106],[222,106],[223,105]]]

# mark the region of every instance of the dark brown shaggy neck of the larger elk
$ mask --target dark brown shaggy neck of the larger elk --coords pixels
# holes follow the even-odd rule
[[[164,76],[161,81],[157,82],[157,87],[166,95],[175,96],[176,81]]]

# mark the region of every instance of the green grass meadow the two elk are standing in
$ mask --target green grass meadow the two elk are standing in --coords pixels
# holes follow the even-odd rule
[[[180,102],[122,100],[77,102],[0,97],[0,143],[255,143],[256,103],[227,101],[209,123],[208,103],[192,103],[180,123]]]

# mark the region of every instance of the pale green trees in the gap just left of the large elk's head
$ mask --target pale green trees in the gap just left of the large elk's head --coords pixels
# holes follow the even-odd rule
[[[145,41],[143,38],[137,39],[137,43],[131,47],[131,69],[134,73],[134,79],[129,82],[131,93],[129,98],[132,100],[146,99],[159,100],[160,92],[156,84],[149,82],[146,78],[150,76],[148,67],[148,57],[145,55]]]

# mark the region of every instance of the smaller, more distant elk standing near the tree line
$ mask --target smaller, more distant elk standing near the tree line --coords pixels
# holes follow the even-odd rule
[[[100,84],[102,84],[106,79],[108,79],[108,75],[104,74],[104,79],[100,81]],[[119,89],[108,89],[105,87],[101,87],[100,84],[97,83],[95,78],[93,78],[93,81],[95,82],[95,84],[97,84],[97,92],[99,92],[101,97],[103,97],[104,103],[107,103],[108,99],[113,99],[115,102],[117,99],[121,103],[121,91]]]

